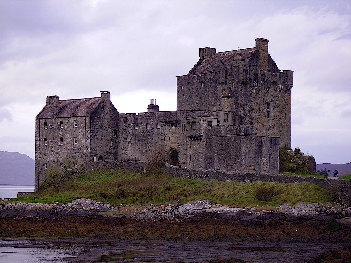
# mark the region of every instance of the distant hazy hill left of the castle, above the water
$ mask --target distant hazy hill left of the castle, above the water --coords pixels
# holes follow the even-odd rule
[[[34,185],[34,160],[26,154],[0,151],[0,184]]]

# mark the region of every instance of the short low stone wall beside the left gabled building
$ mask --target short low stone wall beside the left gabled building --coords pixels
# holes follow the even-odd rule
[[[144,163],[139,161],[85,161],[82,163],[83,171],[87,170],[115,170],[121,169],[132,172],[143,172]]]

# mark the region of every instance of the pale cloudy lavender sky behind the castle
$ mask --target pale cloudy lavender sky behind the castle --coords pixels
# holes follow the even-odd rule
[[[0,0],[0,151],[34,158],[47,95],[99,97],[120,113],[176,109],[176,76],[199,48],[269,40],[294,71],[292,148],[317,163],[351,162],[351,2]]]

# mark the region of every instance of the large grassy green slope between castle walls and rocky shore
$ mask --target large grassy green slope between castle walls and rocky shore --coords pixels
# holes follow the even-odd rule
[[[39,198],[38,198],[39,196]],[[64,182],[58,188],[40,190],[12,201],[69,203],[89,198],[112,205],[181,204],[208,199],[212,203],[241,206],[277,206],[284,203],[330,202],[328,192],[311,183],[220,182],[172,178],[124,171],[91,171]]]

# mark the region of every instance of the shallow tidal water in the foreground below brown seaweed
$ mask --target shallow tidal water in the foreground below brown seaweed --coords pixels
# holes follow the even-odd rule
[[[130,241],[78,238],[0,240],[0,262],[305,262],[342,247],[332,243]]]

